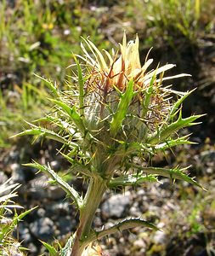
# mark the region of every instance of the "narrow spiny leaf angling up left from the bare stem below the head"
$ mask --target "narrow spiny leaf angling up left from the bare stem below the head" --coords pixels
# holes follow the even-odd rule
[[[36,161],[34,161],[34,163],[25,164],[24,166],[31,166],[31,167],[37,168],[41,172],[46,173],[48,177],[51,177],[55,182],[59,184],[61,189],[64,189],[65,192],[71,196],[71,199],[75,201],[76,206],[78,208],[82,206],[82,198],[80,195],[78,195],[78,193],[76,192],[76,189],[73,189],[68,183],[65,183],[65,181],[50,168],[50,166],[42,166],[38,164]]]

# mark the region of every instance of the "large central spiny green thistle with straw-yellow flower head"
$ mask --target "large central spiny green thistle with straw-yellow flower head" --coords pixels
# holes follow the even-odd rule
[[[82,177],[88,189],[85,195],[48,166],[27,164],[45,172],[76,205],[79,224],[65,247],[53,255],[80,256],[98,239],[136,226],[157,229],[142,218],[126,218],[108,229],[94,230],[93,218],[105,191],[157,182],[158,177],[180,179],[201,187],[178,166],[150,166],[156,154],[181,144],[191,144],[189,136],[178,131],[196,125],[201,115],[183,118],[182,103],[192,91],[180,92],[164,86],[163,81],[188,76],[182,73],[165,77],[174,67],[167,64],[148,70],[153,60],[146,56],[141,67],[139,38],[127,44],[124,34],[117,53],[100,51],[88,38],[82,39],[83,55],[74,55],[74,83],[65,90],[47,79],[53,103],[51,113],[37,125],[19,135],[48,137],[62,144],[58,149],[71,164],[70,172]]]

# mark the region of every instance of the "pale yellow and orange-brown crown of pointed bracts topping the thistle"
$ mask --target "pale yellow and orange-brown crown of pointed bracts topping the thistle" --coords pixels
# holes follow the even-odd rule
[[[81,44],[84,57],[81,55],[78,56],[92,67],[88,84],[91,84],[91,86],[92,84],[96,84],[100,90],[105,90],[105,93],[112,90],[114,87],[118,90],[125,90],[129,80],[134,81],[137,89],[144,89],[150,84],[150,80],[153,76],[163,74],[165,71],[175,66],[173,64],[167,64],[163,67],[157,67],[156,70],[147,72],[147,68],[150,67],[153,59],[147,60],[146,57],[144,65],[141,66],[138,35],[134,41],[127,43],[126,34],[124,33],[118,57],[114,53],[114,50],[113,55],[110,55],[105,49],[105,54],[103,54],[89,39],[83,40],[88,47],[89,52],[86,46]],[[183,77],[185,75],[187,74],[183,73],[172,77],[159,78],[156,79],[155,82]]]

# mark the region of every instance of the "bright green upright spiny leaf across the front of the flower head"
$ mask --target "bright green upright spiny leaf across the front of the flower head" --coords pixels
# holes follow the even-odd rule
[[[114,113],[113,118],[110,122],[110,136],[116,137],[116,133],[122,127],[122,121],[125,119],[127,114],[127,108],[129,107],[134,96],[133,92],[133,80],[129,81],[127,84],[127,90],[122,94],[116,113]]]

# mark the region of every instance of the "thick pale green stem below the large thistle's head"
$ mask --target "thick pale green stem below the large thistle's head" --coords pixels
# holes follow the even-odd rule
[[[107,181],[103,178],[92,177],[90,179],[88,191],[80,209],[80,223],[76,230],[71,256],[81,256],[84,248],[88,246],[88,236],[92,228],[93,218],[106,189]]]

